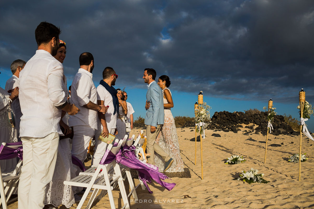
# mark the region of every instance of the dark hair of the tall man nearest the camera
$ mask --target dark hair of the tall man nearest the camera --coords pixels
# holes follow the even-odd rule
[[[56,37],[56,41],[59,41],[59,35],[61,33],[60,28],[47,22],[41,22],[35,30],[35,39],[37,45],[48,43],[53,37]]]

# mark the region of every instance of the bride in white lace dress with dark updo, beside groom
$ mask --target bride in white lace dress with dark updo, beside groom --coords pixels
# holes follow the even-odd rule
[[[155,143],[170,155],[174,162],[167,172],[182,172],[183,161],[180,155],[180,148],[178,142],[178,136],[176,133],[175,120],[171,113],[171,107],[173,107],[173,101],[171,96],[171,91],[167,88],[170,86],[169,77],[166,75],[160,76],[158,79],[158,85],[162,89],[164,95],[164,112],[165,112],[165,122],[159,135],[156,138]],[[164,171],[165,161],[160,157],[159,154],[155,153],[154,164],[159,168],[159,171]]]

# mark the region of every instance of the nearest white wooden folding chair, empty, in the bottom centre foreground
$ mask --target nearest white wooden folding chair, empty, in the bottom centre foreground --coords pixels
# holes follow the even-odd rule
[[[109,144],[107,147],[107,150],[110,150],[113,154],[117,154],[121,148],[123,140],[119,140],[117,146],[113,147],[112,144]],[[113,167],[113,172],[109,173],[109,170]],[[89,194],[89,191],[91,189],[94,189],[89,202],[87,203],[86,208],[90,208],[92,203],[94,202],[96,195],[99,190],[103,190],[98,198],[102,198],[104,196],[104,191],[108,193],[109,201],[111,205],[111,209],[115,209],[115,203],[113,200],[112,190],[114,187],[112,186],[116,181],[118,182],[119,189],[121,192],[122,200],[123,200],[123,207],[122,208],[130,208],[130,204],[127,198],[127,192],[125,191],[123,177],[121,174],[120,166],[116,163],[116,160],[113,160],[111,163],[102,165],[99,164],[98,166],[93,166],[93,169],[96,170],[91,175],[91,171],[86,170],[85,172],[81,172],[77,177],[69,180],[64,181],[65,185],[72,185],[72,186],[80,186],[80,187],[86,187],[86,191],[84,192],[84,195],[79,202],[77,209],[80,209],[83,206],[84,201],[86,200],[86,197]]]

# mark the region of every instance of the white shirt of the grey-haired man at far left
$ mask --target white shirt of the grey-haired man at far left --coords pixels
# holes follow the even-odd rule
[[[15,87],[19,87],[19,78],[15,75],[12,75],[8,81],[5,84],[5,90],[9,91],[11,89],[14,89]],[[14,101],[11,104],[11,108],[13,109],[16,117],[16,122],[19,123],[20,119],[22,117],[22,112],[21,112],[21,106],[19,104],[19,97],[14,99]],[[19,127],[19,124],[16,124],[17,128]]]

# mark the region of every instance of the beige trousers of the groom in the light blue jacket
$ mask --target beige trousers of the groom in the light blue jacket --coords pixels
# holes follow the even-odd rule
[[[155,140],[161,130],[161,127],[162,127],[162,124],[157,125],[156,131],[154,133],[151,133],[150,125],[146,126],[146,138],[147,138],[146,153],[150,154],[147,156],[147,161],[149,164],[152,164],[152,165],[154,165],[154,152],[159,154],[165,160],[165,162],[167,162],[170,159],[170,156],[167,153],[165,153],[165,151],[161,149],[161,147],[157,143],[155,143]]]

